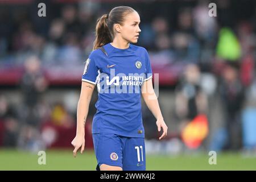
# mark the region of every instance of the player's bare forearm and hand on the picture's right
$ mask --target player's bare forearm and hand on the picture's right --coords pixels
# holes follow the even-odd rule
[[[158,98],[156,97],[153,85],[152,78],[146,80],[142,84],[142,97],[151,113],[156,118],[156,126],[158,126],[158,131],[161,131],[161,127],[163,129],[163,134],[159,137],[159,140],[167,136],[166,123],[164,122],[163,115],[161,113]]]

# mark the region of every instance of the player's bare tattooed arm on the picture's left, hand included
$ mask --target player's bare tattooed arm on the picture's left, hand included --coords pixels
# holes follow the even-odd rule
[[[77,104],[77,127],[76,127],[76,137],[72,140],[72,145],[75,147],[73,150],[73,156],[76,156],[77,150],[81,147],[81,154],[85,147],[85,121],[89,111],[89,104],[92,98],[93,90],[95,88],[94,84],[86,81],[82,81],[81,93],[79,102]]]

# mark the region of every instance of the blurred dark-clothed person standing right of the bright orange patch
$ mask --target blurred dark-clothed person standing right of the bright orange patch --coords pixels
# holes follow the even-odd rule
[[[222,105],[225,109],[225,129],[228,132],[228,143],[224,149],[241,148],[241,110],[244,101],[244,89],[233,65],[227,65],[220,83]]]

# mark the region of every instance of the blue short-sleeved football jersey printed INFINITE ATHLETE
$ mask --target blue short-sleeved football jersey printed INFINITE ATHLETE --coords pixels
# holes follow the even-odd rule
[[[119,49],[110,43],[92,51],[86,60],[82,81],[97,85],[97,112],[92,133],[114,133],[144,138],[141,113],[143,81],[152,78],[145,48],[130,44]]]

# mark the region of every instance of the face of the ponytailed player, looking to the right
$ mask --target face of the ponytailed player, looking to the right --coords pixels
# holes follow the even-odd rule
[[[125,22],[123,22],[121,36],[123,39],[127,40],[130,43],[137,43],[139,39],[139,23],[141,19],[137,12],[129,13],[125,17]]]

